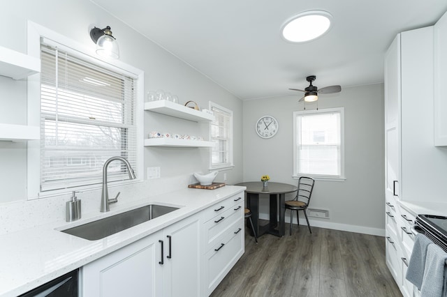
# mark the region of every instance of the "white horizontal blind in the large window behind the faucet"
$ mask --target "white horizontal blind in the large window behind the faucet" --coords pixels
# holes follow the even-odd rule
[[[41,44],[41,191],[94,185],[119,155],[138,172],[137,80],[57,46]],[[122,162],[108,181],[128,179]]]

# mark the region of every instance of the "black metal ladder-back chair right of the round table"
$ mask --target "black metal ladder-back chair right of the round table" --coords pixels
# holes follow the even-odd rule
[[[298,190],[295,199],[286,201],[286,209],[291,210],[291,225],[290,225],[290,234],[292,235],[292,220],[293,220],[293,211],[296,211],[296,221],[298,222],[298,226],[300,225],[300,217],[298,215],[298,211],[304,211],[305,217],[307,221],[307,227],[309,227],[310,233],[312,230],[310,229],[309,219],[307,218],[306,209],[309,206],[310,198],[312,197],[312,191],[314,190],[315,180],[312,177],[301,176],[298,180]]]

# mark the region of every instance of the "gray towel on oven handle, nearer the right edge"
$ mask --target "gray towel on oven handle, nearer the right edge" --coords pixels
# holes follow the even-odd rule
[[[420,296],[446,296],[447,253],[438,245],[428,245]]]

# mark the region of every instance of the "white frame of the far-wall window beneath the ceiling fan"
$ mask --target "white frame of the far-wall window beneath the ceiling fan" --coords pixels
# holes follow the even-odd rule
[[[319,114],[340,114],[340,175],[328,174],[300,174],[298,173],[298,117],[303,115],[319,115]],[[344,107],[335,107],[317,110],[304,110],[293,112],[293,178],[298,179],[300,176],[309,176],[320,181],[345,181],[344,173]]]

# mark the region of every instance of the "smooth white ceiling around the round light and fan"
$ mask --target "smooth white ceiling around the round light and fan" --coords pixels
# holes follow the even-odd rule
[[[242,100],[383,82],[383,54],[401,31],[430,26],[446,0],[92,0]],[[325,10],[333,26],[292,44],[281,25]],[[117,35],[117,34],[115,34]],[[115,36],[119,41],[119,36]],[[302,96],[302,93],[296,93]]]

